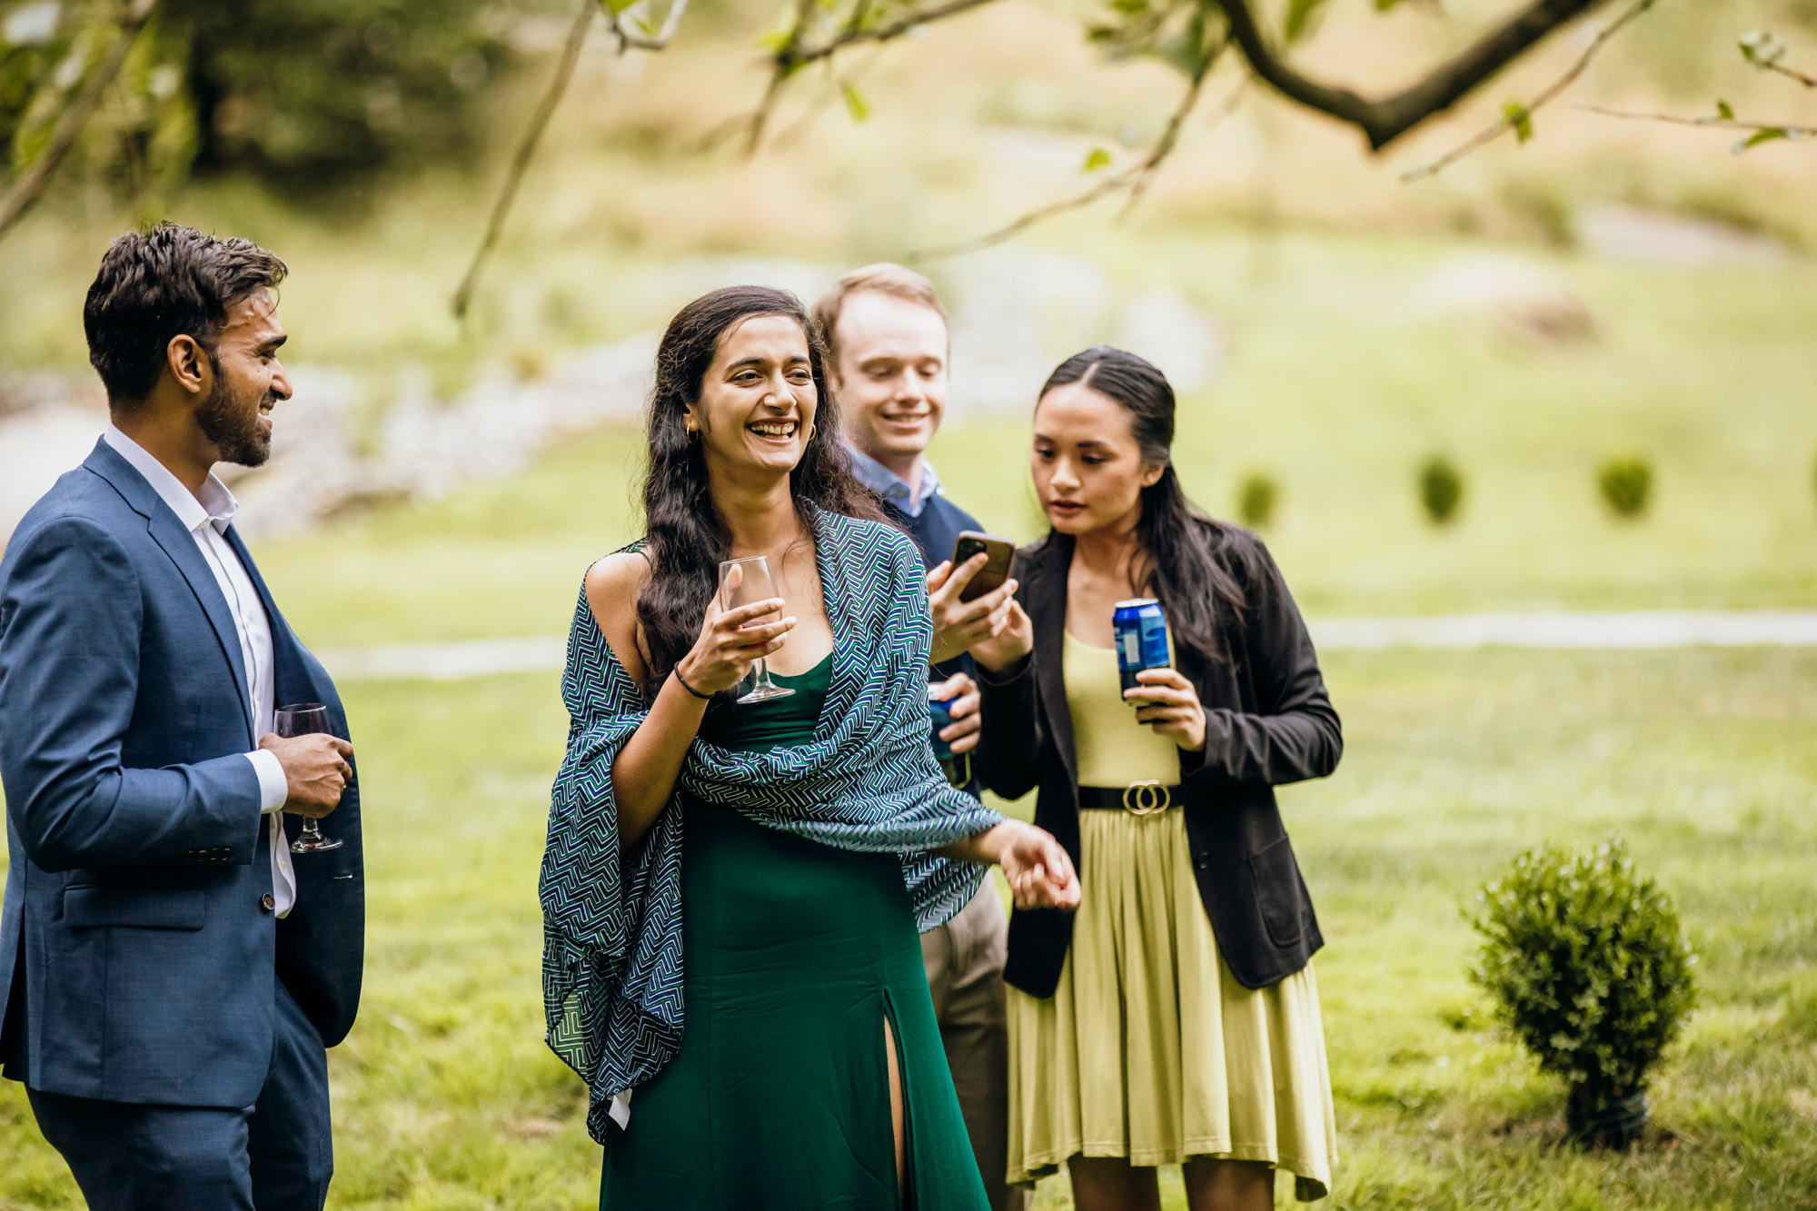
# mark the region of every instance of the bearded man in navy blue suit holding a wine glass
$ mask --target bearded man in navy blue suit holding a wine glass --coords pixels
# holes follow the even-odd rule
[[[173,224],[114,240],[82,316],[111,424],[0,560],[0,1058],[109,1211],[320,1211],[334,1164],[360,784],[211,471],[262,464],[291,396],[283,275]],[[303,702],[333,735],[273,735]],[[289,816],[340,846],[293,858]]]

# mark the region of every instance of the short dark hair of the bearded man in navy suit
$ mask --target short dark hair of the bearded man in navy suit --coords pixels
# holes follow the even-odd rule
[[[151,395],[176,336],[193,336],[213,355],[227,309],[274,289],[285,273],[282,260],[251,240],[220,240],[173,222],[114,240],[82,307],[89,364],[109,405],[127,411]]]

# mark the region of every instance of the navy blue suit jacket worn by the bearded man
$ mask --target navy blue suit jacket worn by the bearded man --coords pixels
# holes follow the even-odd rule
[[[334,684],[271,618],[276,700]],[[7,1076],[109,1102],[243,1107],[271,1069],[273,976],[325,1046],[352,1027],[365,946],[360,784],[271,907],[240,640],[176,515],[105,442],[0,560],[0,1036]],[[298,822],[289,822],[298,831]]]

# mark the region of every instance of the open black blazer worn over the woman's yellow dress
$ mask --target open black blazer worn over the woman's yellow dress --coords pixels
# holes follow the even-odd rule
[[[1205,751],[1181,753],[1187,838],[1199,898],[1217,949],[1245,987],[1265,987],[1306,966],[1325,944],[1286,840],[1274,787],[1337,767],[1343,733],[1325,693],[1312,640],[1261,540],[1236,525],[1212,531],[1214,558],[1243,589],[1239,622],[1223,627],[1226,660],[1179,653],[1179,671],[1205,706]],[[987,786],[1007,798],[1039,787],[1034,822],[1079,864],[1079,796],[1072,715],[1061,678],[1072,538],[1052,535],[1016,556],[1018,600],[1034,622],[1034,655],[1008,676],[985,673]],[[1072,944],[1072,915],[1016,909],[1003,978],[1052,996]]]

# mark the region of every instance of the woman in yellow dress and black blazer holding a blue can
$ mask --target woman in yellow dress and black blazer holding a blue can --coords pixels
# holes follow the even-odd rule
[[[1335,1155],[1319,927],[1274,787],[1332,773],[1337,715],[1274,560],[1190,507],[1172,440],[1148,362],[1097,347],[1054,371],[1027,615],[972,653],[992,789],[1039,787],[1085,887],[1077,915],[1014,913],[1003,971],[1010,1180],[1067,1166],[1079,1211],[1159,1207],[1163,1164],[1192,1211],[1270,1207],[1274,1169],[1321,1198]],[[1112,611],[1143,596],[1174,667],[1123,691]]]

